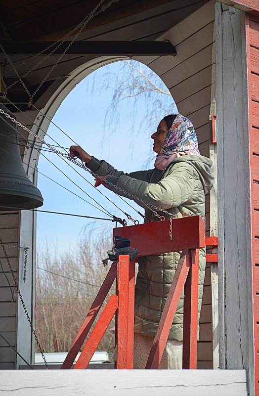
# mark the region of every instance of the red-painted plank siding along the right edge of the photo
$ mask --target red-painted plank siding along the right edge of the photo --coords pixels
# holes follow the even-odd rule
[[[249,132],[252,185],[252,251],[255,324],[255,389],[259,395],[259,18],[247,17]]]

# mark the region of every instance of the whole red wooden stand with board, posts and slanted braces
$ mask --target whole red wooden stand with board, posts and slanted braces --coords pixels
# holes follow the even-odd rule
[[[172,239],[169,233],[170,223]],[[121,227],[116,230],[116,235],[130,238],[131,246],[139,251],[139,257],[182,251],[146,368],[159,367],[173,323],[173,317],[184,288],[182,367],[195,369],[198,331],[199,248],[205,248],[205,245],[216,246],[217,243],[216,238],[207,241],[205,239],[205,217],[193,216],[173,220],[172,222],[165,220]],[[211,259],[213,259],[211,260],[212,262],[217,261],[216,257],[211,257]],[[70,369],[72,367],[115,279],[116,295],[111,295],[74,368],[85,369],[87,367],[115,313],[115,343],[117,345],[115,367],[117,369],[133,368],[135,262],[129,262],[129,256],[119,256],[118,262],[112,263],[86,315],[86,319],[61,366],[62,369]]]

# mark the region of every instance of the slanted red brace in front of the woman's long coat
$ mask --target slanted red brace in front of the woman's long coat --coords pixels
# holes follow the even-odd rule
[[[170,287],[165,308],[161,315],[157,333],[155,335],[154,342],[149,353],[145,368],[159,367],[161,357],[167,343],[169,331],[173,323],[173,317],[175,315],[176,308],[178,306],[181,293],[190,269],[189,263],[187,263],[186,256],[187,251],[183,250],[173,277],[173,282]]]

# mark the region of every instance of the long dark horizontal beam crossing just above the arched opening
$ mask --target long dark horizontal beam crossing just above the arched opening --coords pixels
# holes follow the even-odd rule
[[[54,55],[62,54],[70,42],[64,42]],[[52,42],[5,42],[3,47],[10,55],[35,55]],[[49,53],[53,48],[46,50]],[[176,55],[169,41],[80,41],[67,50],[69,55]]]

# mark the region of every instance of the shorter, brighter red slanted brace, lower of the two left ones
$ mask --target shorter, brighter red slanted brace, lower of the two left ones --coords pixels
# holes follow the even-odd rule
[[[118,296],[112,294],[96,325],[94,326],[94,329],[92,330],[91,335],[88,338],[86,345],[74,366],[74,369],[85,369],[88,366],[89,361],[96,351],[96,348],[98,347],[105,331],[107,330],[107,327],[109,326],[117,308]]]

